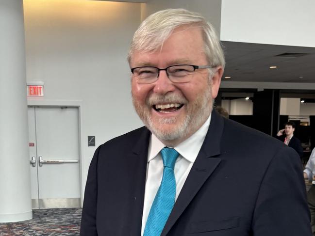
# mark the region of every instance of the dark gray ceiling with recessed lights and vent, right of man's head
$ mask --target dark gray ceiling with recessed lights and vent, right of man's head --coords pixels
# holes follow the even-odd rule
[[[227,41],[222,45],[226,56],[223,81],[315,83],[314,47]]]

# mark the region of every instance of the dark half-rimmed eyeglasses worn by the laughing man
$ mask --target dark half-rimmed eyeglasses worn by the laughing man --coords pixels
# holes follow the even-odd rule
[[[174,83],[190,82],[193,74],[197,69],[214,68],[211,65],[171,65],[166,68],[160,69],[154,66],[139,66],[131,69],[133,78],[139,84],[154,83],[158,80],[160,71],[165,70],[168,79]]]

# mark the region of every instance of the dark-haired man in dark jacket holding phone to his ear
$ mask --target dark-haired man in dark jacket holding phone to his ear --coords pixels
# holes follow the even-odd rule
[[[294,136],[295,124],[294,122],[288,121],[284,125],[284,129],[279,130],[277,138],[284,142],[284,144],[292,147],[297,151],[299,157],[303,157],[303,147],[297,137]]]

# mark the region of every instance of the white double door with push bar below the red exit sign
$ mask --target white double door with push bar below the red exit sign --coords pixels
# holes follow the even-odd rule
[[[80,207],[77,107],[29,107],[32,205]]]

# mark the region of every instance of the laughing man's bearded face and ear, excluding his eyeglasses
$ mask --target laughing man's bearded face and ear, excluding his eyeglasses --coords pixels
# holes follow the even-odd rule
[[[181,26],[155,52],[134,52],[130,66],[207,65],[203,48],[200,29]],[[191,81],[185,83],[171,82],[166,71],[160,71],[158,80],[151,84],[138,84],[132,79],[133,105],[159,140],[177,145],[196,132],[210,115],[222,73],[218,66],[210,80],[208,69],[197,69]]]

